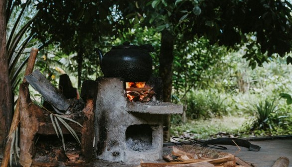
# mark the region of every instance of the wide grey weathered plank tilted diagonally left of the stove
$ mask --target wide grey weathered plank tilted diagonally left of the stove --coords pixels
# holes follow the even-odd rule
[[[38,91],[46,101],[58,108],[60,111],[67,111],[70,102],[66,97],[54,87],[39,70],[35,70],[30,75],[25,76],[26,81]]]

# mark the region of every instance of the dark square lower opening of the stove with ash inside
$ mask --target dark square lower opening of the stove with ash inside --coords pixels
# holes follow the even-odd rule
[[[143,152],[151,149],[152,129],[148,124],[131,125],[126,130],[127,148]]]

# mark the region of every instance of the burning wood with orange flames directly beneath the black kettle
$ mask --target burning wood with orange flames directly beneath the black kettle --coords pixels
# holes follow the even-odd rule
[[[152,87],[145,86],[146,82],[126,83],[127,97],[130,101],[148,102],[155,94]]]

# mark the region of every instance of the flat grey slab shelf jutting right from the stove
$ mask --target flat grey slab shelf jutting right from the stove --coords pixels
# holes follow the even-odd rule
[[[170,102],[128,102],[128,112],[148,113],[148,114],[182,114],[182,105]]]

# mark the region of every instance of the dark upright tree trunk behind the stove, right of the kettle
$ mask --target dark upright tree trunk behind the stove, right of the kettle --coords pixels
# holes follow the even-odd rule
[[[169,31],[161,33],[161,46],[159,55],[159,76],[162,79],[163,101],[171,101],[172,89],[172,62],[174,36]],[[163,117],[163,138],[169,140],[170,115]]]

